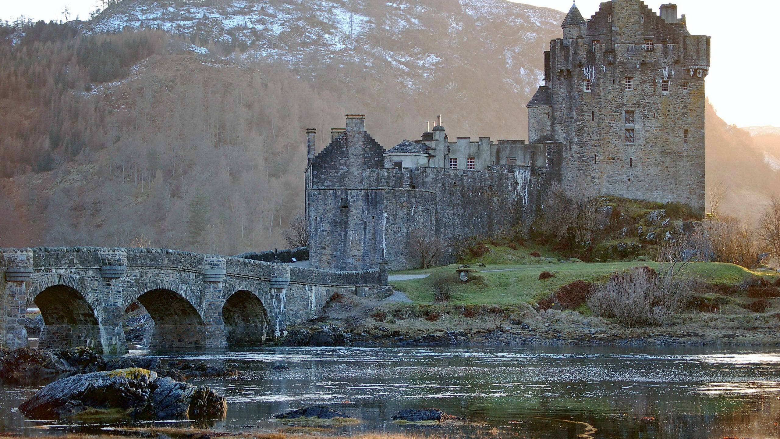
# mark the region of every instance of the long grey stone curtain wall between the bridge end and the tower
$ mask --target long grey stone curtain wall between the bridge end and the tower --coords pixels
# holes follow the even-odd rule
[[[452,262],[466,238],[524,230],[536,212],[540,176],[548,170],[491,169],[367,169],[363,188],[307,191],[312,266],[359,269],[386,260],[388,269],[413,268],[408,242],[415,229],[434,232],[449,250],[441,262]]]

